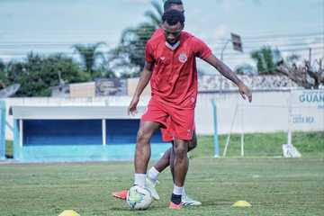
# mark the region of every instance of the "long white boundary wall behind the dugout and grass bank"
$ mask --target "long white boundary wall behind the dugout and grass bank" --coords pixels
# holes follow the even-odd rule
[[[244,101],[237,92],[212,94],[201,93],[195,110],[196,130],[198,134],[213,134],[213,112],[211,99],[216,99],[218,130],[220,134],[244,132],[274,132],[288,130],[288,104],[293,95],[293,130],[324,130],[324,102],[300,105],[299,94],[289,91],[254,92],[253,102]],[[321,94],[324,94],[322,91]],[[297,99],[296,99],[297,98]],[[7,107],[12,105],[125,105],[130,103],[129,96],[96,98],[8,98]],[[139,105],[146,105],[149,96],[141,98]],[[237,108],[236,108],[237,107]],[[322,107],[322,108],[319,108]],[[236,118],[234,118],[237,109]],[[308,119],[312,121],[307,121]],[[12,117],[7,121],[12,124]],[[233,126],[231,126],[233,125]],[[11,130],[6,130],[7,139],[12,139]]]

